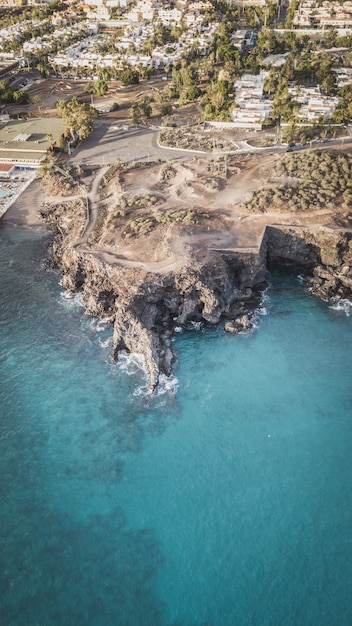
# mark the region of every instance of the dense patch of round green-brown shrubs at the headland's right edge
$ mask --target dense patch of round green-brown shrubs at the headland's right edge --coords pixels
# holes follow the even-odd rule
[[[255,191],[252,212],[311,211],[352,206],[352,155],[304,152],[285,155],[278,165],[283,185]]]

